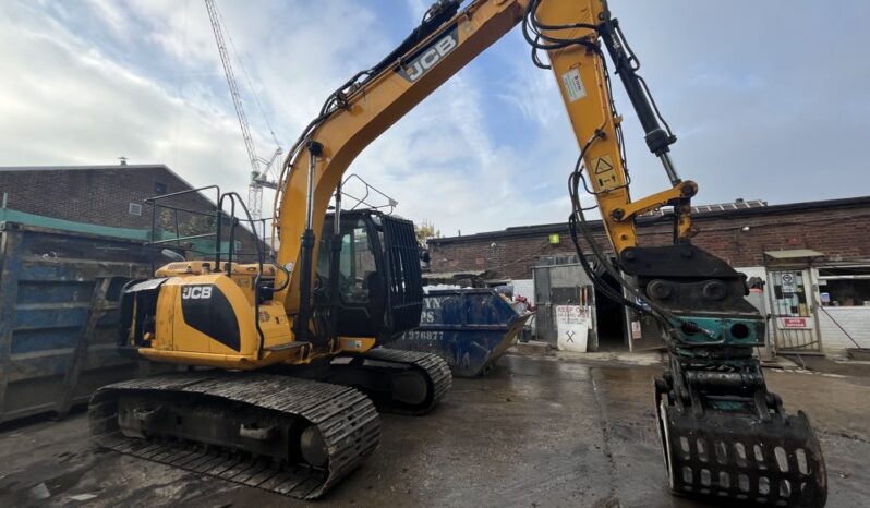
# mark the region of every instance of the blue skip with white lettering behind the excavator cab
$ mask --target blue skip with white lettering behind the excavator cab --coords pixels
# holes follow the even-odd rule
[[[387,348],[442,356],[457,377],[486,374],[532,314],[520,315],[492,289],[432,290],[423,299],[420,327]]]

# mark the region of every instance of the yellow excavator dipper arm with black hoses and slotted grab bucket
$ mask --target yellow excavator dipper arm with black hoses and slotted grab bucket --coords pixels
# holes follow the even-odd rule
[[[569,179],[569,228],[580,261],[604,294],[652,315],[662,329],[669,368],[656,379],[654,394],[670,488],[738,501],[823,506],[827,488],[819,440],[805,413],[788,415],[782,399],[766,390],[752,354],[764,344],[765,322],[744,298],[745,277],[690,242],[690,198],[698,188],[677,174],[668,155],[676,136],[638,74],[639,60],[607,3],[531,0],[523,29],[535,63],[551,66],[559,83],[580,144]],[[549,65],[536,58],[537,50],[547,51]],[[604,52],[673,185],[635,202],[628,196],[620,117]],[[615,263],[595,244],[579,202],[580,184],[597,202]],[[672,209],[665,215],[674,223],[672,244],[638,245],[635,219],[664,206]],[[623,292],[601,280],[602,270]]]

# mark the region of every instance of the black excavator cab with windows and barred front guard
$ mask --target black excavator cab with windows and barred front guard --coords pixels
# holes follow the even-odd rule
[[[317,263],[318,304],[337,307],[340,336],[388,341],[420,324],[423,304],[420,259],[410,220],[376,210],[340,215],[337,294],[329,294],[335,216],[324,220]]]

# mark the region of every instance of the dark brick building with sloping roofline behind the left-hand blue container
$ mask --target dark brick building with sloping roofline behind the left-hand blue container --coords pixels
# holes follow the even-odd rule
[[[0,168],[2,207],[24,215],[84,222],[121,230],[152,230],[152,205],[145,199],[162,194],[189,191],[193,186],[165,165],[4,167]],[[214,232],[214,191],[191,193],[161,201],[183,208],[178,216],[158,209],[156,229],[162,238],[190,237]],[[198,215],[194,211],[210,214]],[[21,214],[20,214],[21,215]],[[226,218],[226,215],[225,215]],[[227,223],[225,221],[225,223]],[[223,228],[222,240],[229,238]],[[255,252],[255,237],[237,228],[235,252]],[[206,238],[186,242],[195,257],[214,252]],[[223,249],[227,249],[226,246]]]

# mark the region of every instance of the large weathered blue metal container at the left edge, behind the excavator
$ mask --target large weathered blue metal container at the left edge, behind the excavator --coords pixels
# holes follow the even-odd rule
[[[116,348],[117,301],[158,257],[143,241],[0,222],[0,422],[63,416],[140,373]]]

